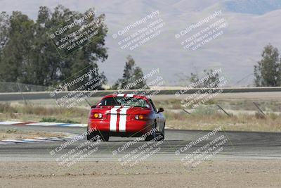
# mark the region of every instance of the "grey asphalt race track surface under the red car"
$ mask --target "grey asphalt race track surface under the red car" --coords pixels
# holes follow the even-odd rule
[[[82,134],[85,132],[84,127],[32,127],[32,126],[15,126],[1,125],[0,129],[17,128],[18,130],[37,130],[52,132],[70,132]],[[187,151],[175,154],[175,151],[184,147],[186,144],[197,140],[209,131],[192,131],[192,130],[166,130],[165,140],[159,146],[161,150],[152,155],[147,160],[157,161],[174,161],[181,160],[187,153],[192,153],[196,149],[207,144],[202,141]],[[218,132],[214,137],[225,135],[228,142],[223,144],[223,151],[218,153],[214,158],[232,158],[232,159],[280,159],[281,158],[281,133],[271,132]],[[119,157],[145,144],[137,142],[128,149],[112,155],[112,151],[122,147],[128,141],[135,138],[110,137],[110,142],[100,142],[98,151],[91,156],[84,158],[84,161],[117,161]],[[212,138],[214,139],[214,138]],[[64,153],[74,149],[86,139],[74,142],[67,148],[63,149]],[[44,143],[25,143],[25,144],[8,144],[0,145],[0,161],[55,161],[57,154],[51,155],[50,151],[59,147],[64,142],[44,142]]]

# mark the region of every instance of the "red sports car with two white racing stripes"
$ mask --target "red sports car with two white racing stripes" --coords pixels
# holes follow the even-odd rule
[[[151,99],[136,94],[110,94],[104,96],[98,106],[92,106],[89,113],[87,139],[100,136],[103,141],[109,137],[143,137],[146,141],[164,139],[165,118]],[[158,136],[157,136],[158,135]]]

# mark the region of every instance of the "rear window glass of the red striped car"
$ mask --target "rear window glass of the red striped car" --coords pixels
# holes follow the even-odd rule
[[[100,101],[100,104],[98,104],[98,106],[134,106],[150,108],[145,100],[126,96],[107,97]]]

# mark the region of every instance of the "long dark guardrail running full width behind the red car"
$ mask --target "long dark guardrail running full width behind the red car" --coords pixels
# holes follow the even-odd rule
[[[211,89],[211,88],[209,88]],[[207,90],[209,90],[207,89]],[[244,93],[244,92],[281,92],[281,87],[227,87],[227,88],[214,88],[214,92],[223,89],[223,93]],[[124,94],[134,93],[141,94],[143,92],[148,92],[148,94],[156,93],[159,94],[192,94],[201,90],[201,88],[196,89],[161,89],[161,90],[126,90],[122,91]],[[90,91],[79,91],[78,93],[84,92],[84,94],[89,94]],[[115,90],[100,90],[91,94],[91,97],[95,96],[105,96],[107,94],[112,94],[117,92]],[[69,92],[59,92],[55,96],[51,97],[51,92],[17,92],[17,93],[0,93],[0,101],[17,101],[17,100],[34,100],[34,99],[58,99]]]

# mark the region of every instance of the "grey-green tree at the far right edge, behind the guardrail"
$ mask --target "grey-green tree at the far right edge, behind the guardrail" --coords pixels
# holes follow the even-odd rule
[[[261,61],[254,65],[256,87],[275,87],[281,85],[281,63],[278,49],[268,44],[261,54]]]

